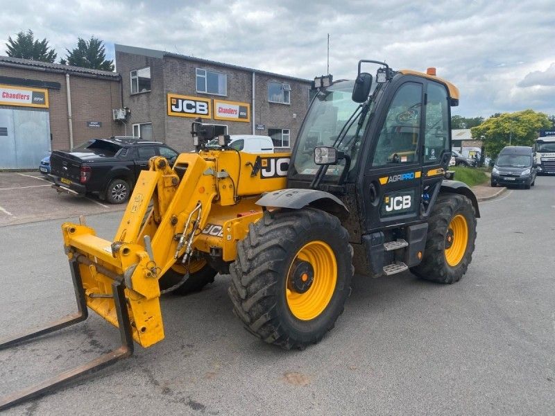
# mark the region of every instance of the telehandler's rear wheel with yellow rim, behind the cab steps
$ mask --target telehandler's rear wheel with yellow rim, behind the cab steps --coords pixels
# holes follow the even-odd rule
[[[411,271],[422,279],[453,284],[466,273],[475,240],[472,202],[454,193],[440,195],[428,220],[424,257]]]

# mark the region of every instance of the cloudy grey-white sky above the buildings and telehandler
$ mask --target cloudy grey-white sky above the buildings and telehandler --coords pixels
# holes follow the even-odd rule
[[[422,3],[422,4],[420,4]],[[427,3],[427,4],[426,4]],[[359,59],[437,67],[461,90],[454,114],[555,114],[553,0],[0,0],[0,54],[31,28],[65,55],[76,38],[194,55],[314,78],[354,78]]]

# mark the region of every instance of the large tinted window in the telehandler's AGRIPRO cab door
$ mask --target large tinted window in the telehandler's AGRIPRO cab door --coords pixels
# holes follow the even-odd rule
[[[418,162],[422,85],[403,84],[391,102],[377,140],[372,166]]]

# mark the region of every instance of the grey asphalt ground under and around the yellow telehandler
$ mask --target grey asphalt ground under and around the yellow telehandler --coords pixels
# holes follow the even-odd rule
[[[475,254],[445,286],[355,278],[318,345],[247,333],[228,276],[162,299],[166,339],[7,415],[554,415],[555,177],[482,202]],[[121,213],[87,217],[111,239]],[[76,220],[76,218],[72,218]],[[74,311],[61,220],[0,227],[0,336]],[[91,318],[0,352],[0,395],[118,345]]]

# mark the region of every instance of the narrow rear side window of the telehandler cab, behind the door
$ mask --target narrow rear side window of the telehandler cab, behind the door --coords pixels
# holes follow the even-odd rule
[[[426,101],[426,126],[424,130],[424,163],[441,159],[449,146],[449,101],[443,85],[429,83]]]

